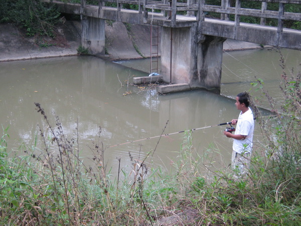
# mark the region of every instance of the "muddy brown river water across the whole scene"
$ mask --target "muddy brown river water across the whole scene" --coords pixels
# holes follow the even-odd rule
[[[282,51],[288,68],[297,67],[300,53]],[[239,114],[234,104],[236,94],[248,90],[254,76],[264,80],[270,95],[283,101],[278,89],[278,65],[279,54],[274,50],[228,52],[223,56],[221,95],[204,90],[157,95],[154,89],[142,91],[129,84],[133,76],[148,75],[149,59],[114,63],[78,56],[2,62],[0,123],[3,128],[9,127],[11,155],[24,155],[21,143],[29,149],[34,146],[35,136],[39,138],[35,153],[38,149],[43,151],[37,125],[43,132],[47,125],[35,109],[34,103],[39,102],[53,128],[58,116],[67,139],[79,139],[80,156],[89,165],[93,162],[90,148],[98,139],[99,127],[100,140],[104,147],[109,147],[229,122]],[[259,96],[259,92],[254,94]],[[268,107],[266,101],[260,104]],[[230,162],[232,141],[223,136],[224,129],[225,126],[212,127],[191,134],[196,152],[205,153],[215,167]],[[130,168],[129,153],[134,160],[142,160],[155,150],[145,162],[155,168],[170,169],[179,160],[181,145],[187,144],[186,135],[178,133],[162,137],[160,142],[156,138],[106,148],[105,161],[115,173],[119,158],[121,168]],[[256,148],[256,142],[262,139],[257,130],[254,139]],[[52,150],[57,152],[55,147]]]

